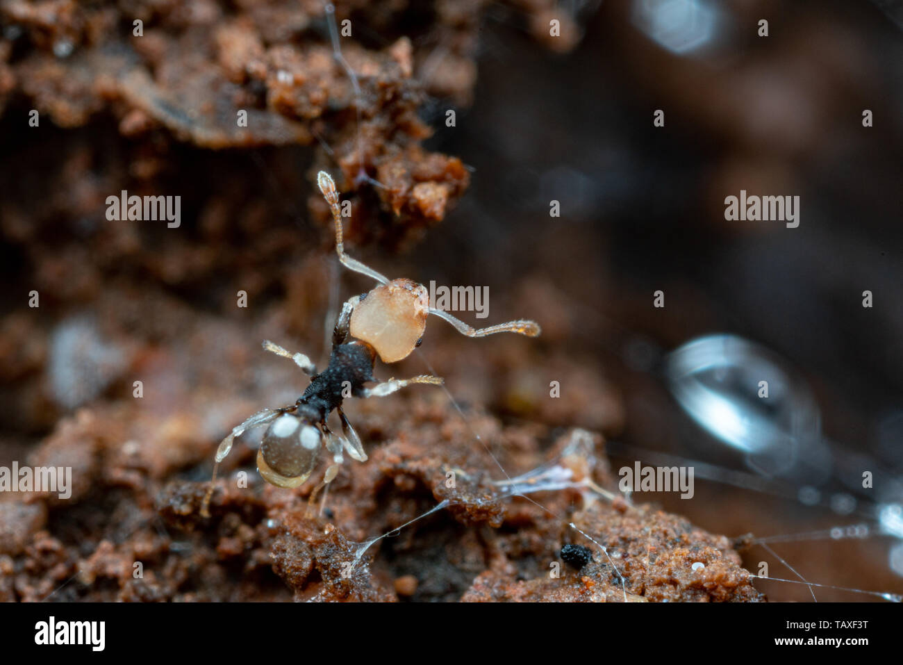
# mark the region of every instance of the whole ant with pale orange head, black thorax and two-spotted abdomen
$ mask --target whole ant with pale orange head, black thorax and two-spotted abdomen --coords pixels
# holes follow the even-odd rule
[[[311,383],[293,405],[258,411],[234,427],[222,440],[217,448],[213,477],[201,504],[200,514],[205,518],[209,517],[209,502],[215,490],[219,463],[232,449],[235,437],[248,429],[264,425],[269,427],[257,451],[257,471],[266,482],[277,487],[292,488],[305,482],[317,464],[321,445],[332,455],[332,464],[327,467],[322,482],[314,488],[308,501],[308,515],[311,516],[317,492],[322,488],[328,490],[329,483],[339,473],[343,452],[358,462],[367,461],[360,436],[342,410],[342,401],[348,397],[385,397],[417,383],[442,385],[441,378],[429,375],[412,379],[388,379],[372,388],[364,385],[376,380],[373,377],[373,367],[377,356],[385,363],[397,362],[420,346],[428,314],[439,316],[468,337],[485,337],[495,333],[518,333],[535,337],[540,333],[537,323],[523,319],[488,328],[472,328],[452,314],[433,309],[424,285],[404,277],[389,280],[373,268],[349,257],[342,242],[339,193],[335,183],[329,173],[321,171],[317,174],[317,184],[332,212],[336,253],[342,265],[372,277],[379,285],[366,294],[349,298],[342,305],[339,319],[332,331],[330,362],[319,374],[311,359],[303,353],[291,353],[273,342],[264,342],[266,351],[294,361],[311,377]],[[327,418],[332,411],[339,412],[342,434],[333,432],[327,425]],[[325,502],[326,491],[323,492],[321,511]]]

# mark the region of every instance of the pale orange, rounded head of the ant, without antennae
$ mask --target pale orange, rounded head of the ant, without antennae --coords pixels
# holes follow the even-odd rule
[[[351,314],[352,337],[372,346],[383,362],[407,358],[426,329],[430,295],[422,284],[393,279],[377,286]]]

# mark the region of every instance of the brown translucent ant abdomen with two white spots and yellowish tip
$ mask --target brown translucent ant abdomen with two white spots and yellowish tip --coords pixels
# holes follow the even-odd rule
[[[266,429],[257,452],[257,470],[277,487],[297,487],[311,475],[320,453],[321,433],[291,414]]]

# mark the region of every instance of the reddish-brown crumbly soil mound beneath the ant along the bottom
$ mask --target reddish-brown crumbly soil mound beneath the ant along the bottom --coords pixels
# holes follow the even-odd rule
[[[0,504],[0,528],[11,535],[0,567],[3,599],[764,600],[730,539],[678,516],[577,490],[506,498],[470,427],[505,451],[499,461],[507,469],[552,458],[610,487],[598,436],[565,432],[544,453],[547,428],[502,426],[470,411],[468,424],[438,393],[356,410],[370,459],[342,470],[324,516],[306,516],[312,483],[298,492],[266,485],[246,449],[219,482],[209,520],[199,515],[205,482],[177,477],[192,457],[200,464],[209,454],[209,442],[193,438],[188,423],[166,424],[170,444],[140,445],[132,438],[144,439],[134,431],[141,426],[135,413],[79,412],[35,453],[59,464],[67,449],[76,470],[72,499]],[[109,426],[123,419],[115,436]],[[446,510],[356,560],[358,543],[443,500]],[[591,551],[579,569],[560,556],[572,542]]]

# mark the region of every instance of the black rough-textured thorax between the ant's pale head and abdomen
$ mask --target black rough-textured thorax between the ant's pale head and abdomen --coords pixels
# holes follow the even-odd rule
[[[364,384],[373,381],[377,353],[367,342],[339,344],[332,349],[330,364],[311,378],[298,398],[298,416],[312,423],[325,423],[330,413],[349,397],[363,397]]]

